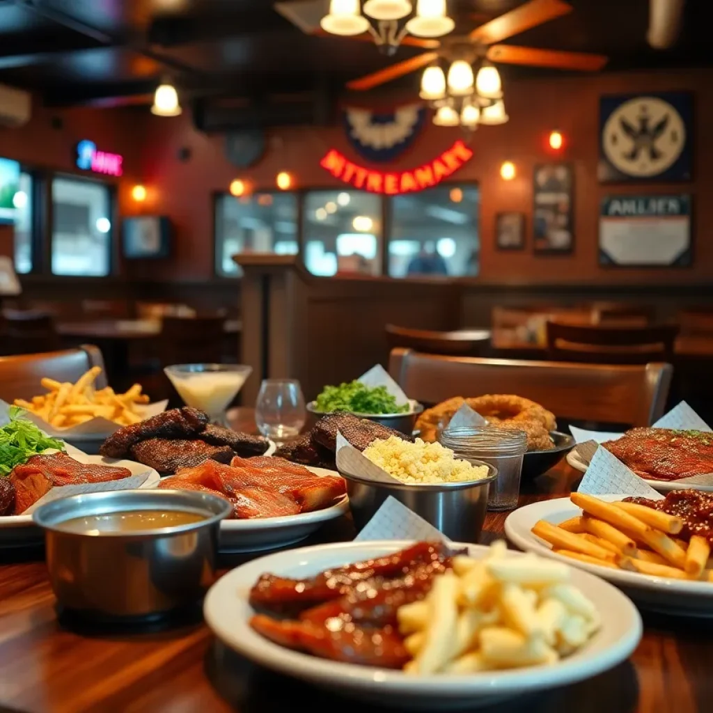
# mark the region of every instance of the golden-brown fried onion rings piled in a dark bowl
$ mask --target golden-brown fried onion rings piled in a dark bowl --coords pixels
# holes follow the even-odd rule
[[[557,428],[555,416],[535,401],[515,394],[486,394],[471,399],[455,396],[442,401],[432,409],[426,409],[416,421],[416,429],[421,431],[424,441],[436,441],[438,431],[445,428],[453,414],[463,404],[481,414],[488,423],[498,427],[525,431],[528,436],[529,451],[546,451],[554,447],[550,431]]]

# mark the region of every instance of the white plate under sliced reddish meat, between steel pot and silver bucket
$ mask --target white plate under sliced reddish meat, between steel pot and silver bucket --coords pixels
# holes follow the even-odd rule
[[[337,471],[306,466],[317,476],[339,476]],[[340,478],[342,476],[339,476]],[[339,518],[349,510],[349,500],[344,496],[339,503],[312,513],[284,515],[281,518],[255,518],[252,520],[222,520],[220,523],[221,552],[260,552],[286,545],[294,545],[322,527],[327,520]]]

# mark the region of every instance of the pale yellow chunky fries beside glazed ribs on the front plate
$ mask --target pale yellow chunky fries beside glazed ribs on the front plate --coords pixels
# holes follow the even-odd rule
[[[585,645],[600,627],[595,605],[569,583],[566,565],[504,542],[476,560],[458,555],[424,600],[399,607],[404,672],[470,674],[552,664]]]

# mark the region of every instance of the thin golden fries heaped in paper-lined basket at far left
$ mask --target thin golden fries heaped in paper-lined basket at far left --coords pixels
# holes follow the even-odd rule
[[[32,401],[15,399],[15,406],[40,416],[57,429],[68,429],[96,418],[108,419],[120,426],[138,424],[142,418],[136,404],[148,404],[148,396],[141,393],[140,384],[134,384],[125,394],[116,394],[111,386],[95,389],[94,381],[99,374],[101,367],[93,366],[76,384],[41,379],[48,394],[34,396]]]

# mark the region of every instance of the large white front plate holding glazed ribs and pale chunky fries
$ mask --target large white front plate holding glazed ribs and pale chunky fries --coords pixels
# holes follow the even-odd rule
[[[397,705],[399,709],[476,707],[528,691],[573,683],[625,660],[640,641],[641,618],[632,602],[611,585],[578,570],[572,571],[572,581],[596,602],[602,612],[602,628],[582,650],[552,666],[416,678],[400,671],[328,661],[291,651],[250,628],[248,622],[254,612],[247,597],[262,573],[309,577],[329,567],[386,555],[409,544],[394,540],[337,543],[253,560],[212,586],[203,606],[205,620],[227,646],[262,666],[354,697]],[[454,546],[470,548],[474,556],[487,551],[479,545]],[[512,553],[512,556],[521,555]]]

